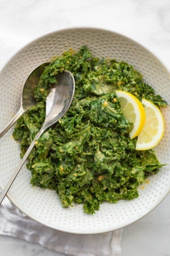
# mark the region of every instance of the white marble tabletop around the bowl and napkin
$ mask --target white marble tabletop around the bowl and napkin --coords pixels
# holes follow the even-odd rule
[[[0,69],[32,39],[62,28],[86,26],[135,39],[170,70],[170,0],[0,0]],[[167,195],[150,214],[124,228],[122,256],[170,255],[169,205]],[[21,239],[0,236],[0,255],[15,254],[62,256]]]

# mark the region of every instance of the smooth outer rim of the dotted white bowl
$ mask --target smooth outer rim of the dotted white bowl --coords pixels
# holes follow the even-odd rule
[[[167,74],[170,75],[170,71],[168,70],[168,68],[166,67],[166,65],[163,63],[162,60],[160,60],[159,57],[157,57],[157,55],[149,50],[147,47],[143,46],[140,42],[137,42],[136,40],[134,40],[133,38],[125,35],[125,34],[122,34],[122,33],[119,33],[119,32],[116,32],[114,30],[110,30],[110,29],[105,29],[105,28],[97,28],[97,27],[70,27],[70,28],[61,28],[61,29],[58,29],[58,30],[54,30],[54,31],[51,31],[49,33],[44,33],[42,34],[41,36],[39,37],[36,37],[35,39],[31,40],[30,42],[24,44],[18,51],[16,51],[9,59],[8,61],[5,62],[5,64],[2,66],[2,68],[0,69],[0,73],[3,72],[3,70],[6,68],[6,66],[9,65],[10,61],[12,61],[12,59],[17,56],[22,50],[24,50],[25,47],[28,47],[29,45],[31,45],[32,43],[36,42],[37,40],[39,39],[42,39],[43,37],[46,37],[46,36],[49,36],[49,35],[52,35],[52,34],[55,34],[55,33],[59,33],[59,32],[67,32],[67,31],[70,31],[70,30],[90,30],[90,29],[94,29],[94,30],[98,30],[98,31],[103,31],[103,32],[108,32],[108,33],[114,33],[118,36],[121,36],[121,37],[124,37],[125,39],[128,39],[130,40],[131,42],[134,42],[135,44],[139,45],[140,47],[142,47],[145,51],[148,51],[154,58],[157,59],[157,61],[159,62],[160,65],[163,66],[163,68],[166,70]],[[1,186],[0,186],[1,188]],[[2,189],[2,188],[1,188]],[[131,219],[130,221],[128,221],[128,223],[124,223],[124,224],[117,224],[116,227],[114,229],[112,228],[105,228],[105,229],[102,229],[102,231],[99,231],[99,230],[95,230],[95,231],[71,231],[70,229],[67,229],[67,228],[55,228],[53,225],[51,224],[47,224],[45,223],[44,221],[40,220],[40,219],[37,219],[36,217],[32,218],[31,214],[28,214],[27,211],[23,210],[22,207],[20,207],[20,205],[18,205],[18,203],[15,203],[15,200],[13,200],[11,198],[11,196],[7,193],[7,197],[9,198],[9,200],[13,203],[13,205],[15,205],[18,209],[20,209],[24,214],[26,214],[28,217],[30,217],[31,219],[35,220],[36,222],[40,223],[40,224],[43,224],[49,228],[53,228],[53,229],[56,229],[56,230],[59,230],[59,231],[63,231],[63,232],[67,232],[67,233],[76,233],[76,234],[97,234],[97,233],[105,233],[105,232],[110,232],[110,231],[113,231],[113,230],[117,230],[117,229],[120,229],[120,228],[124,228],[126,226],[129,226],[131,223],[135,223],[136,221],[138,221],[139,219],[143,218],[144,216],[146,216],[147,214],[149,214],[153,209],[155,209],[160,203],[162,200],[165,199],[166,195],[168,195],[168,193],[170,192],[170,187],[167,187],[165,193],[159,198],[159,200],[157,200],[157,205],[154,205],[152,206],[152,208],[150,209],[147,209],[146,211],[143,211],[142,214],[136,216],[134,219]]]

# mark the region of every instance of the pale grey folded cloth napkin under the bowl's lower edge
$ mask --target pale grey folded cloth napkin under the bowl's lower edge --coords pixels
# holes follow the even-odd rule
[[[71,234],[48,228],[23,214],[7,197],[0,205],[0,234],[39,243],[73,256],[121,256],[121,229],[101,234]]]

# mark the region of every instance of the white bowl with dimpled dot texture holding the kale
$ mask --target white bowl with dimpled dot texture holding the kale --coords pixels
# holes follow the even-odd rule
[[[96,28],[73,28],[49,33],[17,52],[0,72],[0,130],[18,111],[22,86],[37,65],[51,61],[69,48],[90,48],[94,56],[127,61],[143,74],[143,79],[170,99],[170,74],[150,51],[130,38]],[[165,135],[156,147],[161,163],[170,164],[170,107],[163,109]],[[19,144],[13,128],[0,139],[0,187],[3,189],[20,161]],[[25,166],[8,192],[9,199],[32,219],[71,233],[102,233],[122,228],[154,209],[170,190],[169,165],[139,187],[139,198],[116,204],[103,203],[94,215],[83,213],[82,205],[63,209],[55,191],[32,187],[31,173]]]

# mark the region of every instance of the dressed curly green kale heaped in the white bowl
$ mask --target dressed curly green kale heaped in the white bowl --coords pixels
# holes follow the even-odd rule
[[[154,150],[135,150],[136,138],[129,136],[132,124],[123,116],[115,90],[158,106],[166,102],[133,66],[93,57],[85,46],[64,52],[45,68],[35,90],[36,107],[19,119],[13,132],[21,157],[45,119],[49,88],[63,70],[75,77],[75,95],[66,115],[40,137],[29,156],[31,184],[55,190],[63,207],[81,203],[91,214],[104,201],[138,197],[139,184],[162,165]]]

